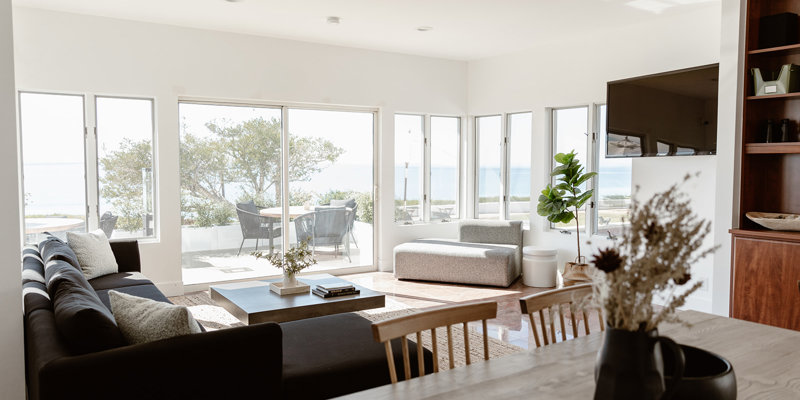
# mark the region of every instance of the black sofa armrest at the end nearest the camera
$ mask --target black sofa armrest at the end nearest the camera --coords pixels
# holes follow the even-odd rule
[[[282,331],[264,323],[63,357],[40,400],[282,398]]]

